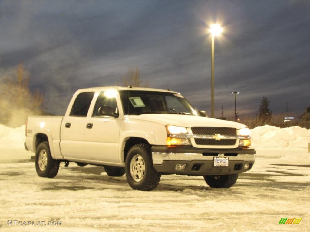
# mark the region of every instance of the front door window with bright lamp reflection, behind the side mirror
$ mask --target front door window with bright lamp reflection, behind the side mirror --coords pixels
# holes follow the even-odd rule
[[[103,106],[108,106],[112,108],[113,114],[115,116],[118,116],[118,108],[116,103],[116,98],[114,94],[111,94],[111,92],[100,92],[95,107],[93,111],[93,117],[103,117],[103,115],[99,114],[100,108]]]

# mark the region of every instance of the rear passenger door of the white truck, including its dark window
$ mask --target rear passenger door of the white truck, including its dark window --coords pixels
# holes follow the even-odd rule
[[[64,158],[77,160],[85,158],[86,116],[94,94],[94,92],[79,93],[71,111],[66,112],[64,116],[60,128],[60,150]]]

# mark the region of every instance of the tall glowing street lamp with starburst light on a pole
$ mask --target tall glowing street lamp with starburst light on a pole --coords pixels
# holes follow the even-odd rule
[[[211,117],[214,118],[214,37],[219,36],[223,28],[219,24],[210,26],[211,40]]]

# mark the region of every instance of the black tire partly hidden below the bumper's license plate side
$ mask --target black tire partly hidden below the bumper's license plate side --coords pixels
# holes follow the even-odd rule
[[[203,178],[211,188],[230,188],[236,183],[238,174],[210,175]]]

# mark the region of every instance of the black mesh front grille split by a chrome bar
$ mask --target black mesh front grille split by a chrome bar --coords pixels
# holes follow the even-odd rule
[[[237,135],[237,129],[230,127],[192,127],[191,129],[194,135]],[[233,146],[236,140],[195,139],[195,143],[202,146]]]

